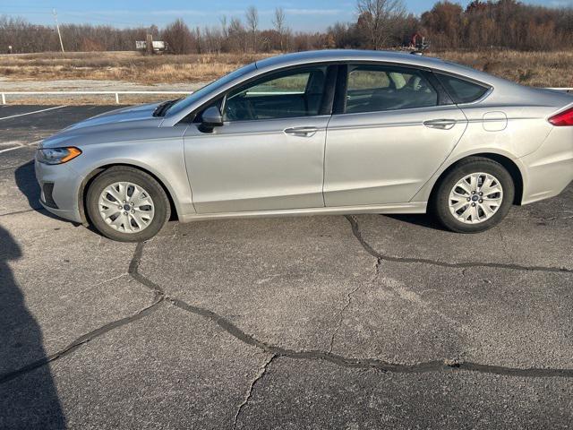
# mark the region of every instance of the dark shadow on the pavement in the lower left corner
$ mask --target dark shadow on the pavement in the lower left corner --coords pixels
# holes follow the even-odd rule
[[[0,227],[0,428],[65,428],[42,332],[10,267],[21,256]]]

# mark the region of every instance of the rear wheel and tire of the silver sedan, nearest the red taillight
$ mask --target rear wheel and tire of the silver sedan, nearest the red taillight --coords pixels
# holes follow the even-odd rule
[[[483,157],[468,157],[436,185],[429,209],[440,224],[451,231],[479,233],[505,218],[514,196],[513,178],[500,163]]]

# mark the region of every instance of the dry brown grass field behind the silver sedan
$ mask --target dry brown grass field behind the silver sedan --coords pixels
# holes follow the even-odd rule
[[[573,50],[555,52],[444,51],[430,53],[525,85],[573,87]],[[265,55],[141,56],[136,52],[1,55],[0,76],[14,81],[121,80],[210,82]]]

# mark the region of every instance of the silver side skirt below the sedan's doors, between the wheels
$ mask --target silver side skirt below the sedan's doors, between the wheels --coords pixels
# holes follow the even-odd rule
[[[368,206],[338,206],[333,208],[286,209],[276,211],[243,211],[220,213],[193,213],[181,217],[181,222],[221,218],[270,218],[312,215],[350,215],[357,213],[425,213],[428,202],[406,202]]]

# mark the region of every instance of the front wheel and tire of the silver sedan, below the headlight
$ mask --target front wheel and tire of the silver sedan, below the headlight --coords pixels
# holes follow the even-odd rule
[[[143,242],[163,228],[171,205],[155,178],[137,168],[115,167],[90,184],[86,211],[91,225],[103,236],[119,242]]]

